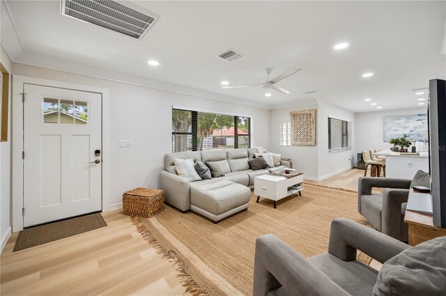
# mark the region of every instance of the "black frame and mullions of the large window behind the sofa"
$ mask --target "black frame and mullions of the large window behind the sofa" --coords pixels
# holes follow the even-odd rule
[[[240,116],[240,115],[232,115],[232,114],[223,114],[223,113],[216,113],[216,112],[212,112],[212,111],[194,111],[194,110],[190,110],[190,109],[185,109],[185,108],[181,108],[181,107],[172,107],[171,111],[173,110],[180,110],[180,111],[188,111],[192,113],[192,118],[191,118],[191,131],[190,132],[174,132],[174,129],[172,128],[172,132],[171,132],[171,150],[172,153],[176,153],[176,152],[186,152],[186,151],[207,151],[207,150],[213,150],[212,148],[208,148],[208,149],[203,149],[203,150],[199,150],[199,145],[198,145],[198,116],[199,113],[208,113],[208,114],[217,114],[217,115],[222,115],[222,116],[233,116],[233,120],[234,120],[234,149],[238,149],[238,137],[239,136],[247,136],[247,148],[251,148],[252,145],[252,132],[251,132],[251,127],[252,127],[252,118],[249,116]],[[247,134],[239,134],[238,133],[238,118],[240,117],[244,117],[247,118]],[[185,135],[191,135],[192,136],[192,150],[185,150],[185,151],[174,151],[174,135],[180,135],[180,134],[185,134]],[[186,146],[187,147],[187,146]]]

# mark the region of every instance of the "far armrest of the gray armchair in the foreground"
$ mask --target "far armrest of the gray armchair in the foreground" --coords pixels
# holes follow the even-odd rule
[[[408,247],[408,244],[349,219],[332,221],[328,253],[341,260],[356,260],[358,249],[380,263],[385,263]]]

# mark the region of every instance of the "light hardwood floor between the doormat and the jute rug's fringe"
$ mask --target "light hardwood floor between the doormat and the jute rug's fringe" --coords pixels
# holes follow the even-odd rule
[[[108,226],[0,257],[1,295],[190,295],[176,265],[156,254],[121,210]]]

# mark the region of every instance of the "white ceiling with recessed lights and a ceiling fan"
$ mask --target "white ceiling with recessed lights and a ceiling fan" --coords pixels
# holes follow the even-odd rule
[[[60,59],[272,108],[317,99],[355,112],[376,111],[364,98],[381,110],[420,107],[412,89],[446,79],[440,54],[445,1],[131,2],[160,17],[141,40],[64,17],[60,1],[6,1],[24,52],[3,46],[16,62]],[[350,47],[335,51],[338,42]],[[245,58],[228,63],[216,57],[229,48]],[[161,65],[153,68],[148,59]],[[261,83],[264,68],[274,67],[275,77],[293,66],[304,70],[277,84],[290,95],[270,91],[266,98],[260,86],[220,85]],[[363,78],[364,72],[374,76]]]

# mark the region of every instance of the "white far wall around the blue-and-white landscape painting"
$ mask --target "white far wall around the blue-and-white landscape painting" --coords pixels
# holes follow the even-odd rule
[[[385,142],[383,134],[383,117],[409,114],[426,114],[427,107],[400,109],[390,111],[374,111],[355,114],[355,151],[374,148],[388,149],[392,147],[389,142]]]

